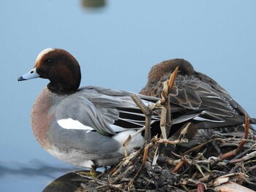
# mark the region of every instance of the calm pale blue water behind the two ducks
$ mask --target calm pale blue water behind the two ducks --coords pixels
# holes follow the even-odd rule
[[[68,50],[81,85],[140,91],[154,64],[185,58],[217,80],[252,117],[256,1],[0,1],[0,191],[42,191],[77,170],[51,157],[31,133],[30,110],[47,80],[17,82],[47,47]]]

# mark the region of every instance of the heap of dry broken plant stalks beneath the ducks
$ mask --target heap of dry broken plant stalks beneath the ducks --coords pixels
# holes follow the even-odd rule
[[[178,145],[184,140],[167,142],[154,137],[148,145],[124,158],[118,166],[106,169],[97,178],[80,175],[85,181],[78,191],[231,191],[234,186],[243,191],[256,190],[256,141],[253,135],[246,139],[240,153],[220,158],[222,154],[236,150],[241,141],[243,137],[222,135],[181,153]],[[159,153],[157,149],[161,149],[160,155],[156,155]],[[156,157],[157,164],[154,163]]]

